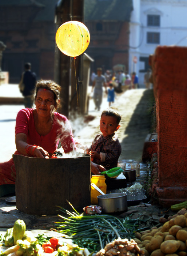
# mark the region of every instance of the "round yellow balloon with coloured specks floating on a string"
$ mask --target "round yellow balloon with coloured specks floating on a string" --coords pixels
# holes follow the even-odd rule
[[[87,27],[79,21],[63,23],[56,32],[56,44],[64,54],[76,57],[88,47],[90,35]]]

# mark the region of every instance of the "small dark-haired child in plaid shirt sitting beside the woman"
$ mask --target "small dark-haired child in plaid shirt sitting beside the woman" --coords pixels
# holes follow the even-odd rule
[[[100,131],[96,135],[89,154],[91,161],[102,165],[107,170],[118,166],[118,158],[122,152],[121,145],[115,134],[120,128],[121,114],[116,109],[104,110],[100,119]]]

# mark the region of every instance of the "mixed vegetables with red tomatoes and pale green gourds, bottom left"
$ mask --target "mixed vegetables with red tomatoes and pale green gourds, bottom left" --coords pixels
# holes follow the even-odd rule
[[[25,230],[25,223],[17,220],[11,229],[7,229],[5,236],[1,236],[0,256],[88,256],[87,248],[80,248],[69,240],[59,244],[56,237],[38,235]],[[46,254],[47,253],[47,254]]]

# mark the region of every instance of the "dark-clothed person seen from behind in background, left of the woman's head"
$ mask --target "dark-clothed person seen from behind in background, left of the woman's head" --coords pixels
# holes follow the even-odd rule
[[[36,84],[36,74],[31,72],[31,63],[25,63],[25,72],[21,76],[21,81],[19,83],[19,88],[24,96],[24,106],[25,108],[33,108],[34,103],[34,88]]]

